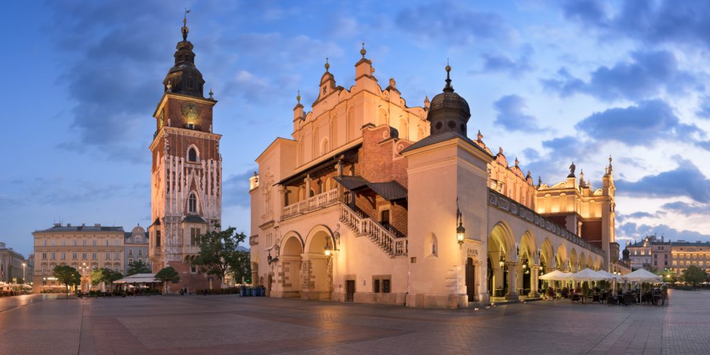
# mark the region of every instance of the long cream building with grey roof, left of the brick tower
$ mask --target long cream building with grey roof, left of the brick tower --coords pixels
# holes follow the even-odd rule
[[[125,273],[124,229],[121,226],[54,224],[34,231],[33,292],[62,287],[53,278],[55,266],[69,265],[82,274],[81,290],[91,288],[89,276],[97,268]]]

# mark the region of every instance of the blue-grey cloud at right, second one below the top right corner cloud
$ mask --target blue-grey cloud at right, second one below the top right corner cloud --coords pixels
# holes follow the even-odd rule
[[[673,109],[660,100],[596,112],[575,125],[600,141],[618,141],[628,146],[652,146],[657,139],[702,138],[697,126],[682,124]]]

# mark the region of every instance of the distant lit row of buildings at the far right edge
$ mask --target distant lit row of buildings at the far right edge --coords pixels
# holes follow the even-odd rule
[[[670,270],[679,275],[693,265],[710,272],[710,242],[671,241],[651,235],[626,248],[635,269]]]

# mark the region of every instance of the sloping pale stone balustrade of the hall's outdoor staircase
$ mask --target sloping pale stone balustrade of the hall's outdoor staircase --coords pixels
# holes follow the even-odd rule
[[[339,204],[340,222],[348,226],[355,233],[355,236],[367,236],[391,258],[407,256],[407,237],[398,238],[374,219],[364,217],[343,202],[339,202]]]

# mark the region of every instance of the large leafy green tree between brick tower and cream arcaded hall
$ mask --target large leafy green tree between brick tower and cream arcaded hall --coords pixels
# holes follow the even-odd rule
[[[241,257],[239,243],[245,239],[246,234],[234,234],[232,226],[220,231],[219,224],[214,224],[214,230],[200,236],[200,253],[192,264],[200,266],[209,275],[217,275],[220,282],[224,282],[229,266],[236,265]]]

